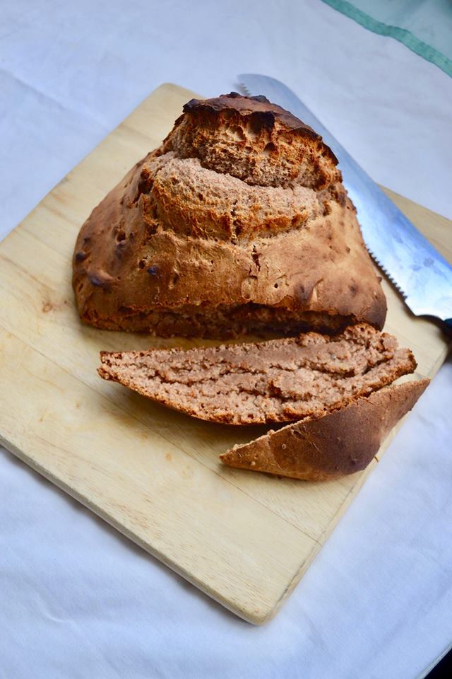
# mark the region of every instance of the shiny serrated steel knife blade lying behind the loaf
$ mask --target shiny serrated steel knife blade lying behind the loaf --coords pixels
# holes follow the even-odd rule
[[[338,158],[364,242],[376,263],[398,288],[412,313],[436,316],[452,327],[451,265],[284,83],[249,73],[238,79],[245,93],[265,95],[321,134]]]

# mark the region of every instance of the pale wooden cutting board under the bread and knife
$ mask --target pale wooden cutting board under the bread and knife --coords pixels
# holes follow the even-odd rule
[[[78,229],[126,170],[160,144],[192,96],[174,85],[158,88],[0,244],[0,440],[209,596],[263,623],[376,461],[317,484],[223,467],[219,453],[266,428],[197,421],[96,373],[100,349],[201,342],[94,330],[79,323],[73,305]],[[451,223],[391,197],[452,259]],[[414,350],[419,376],[434,376],[446,356],[441,330],[412,317],[387,284],[385,291],[386,329]]]

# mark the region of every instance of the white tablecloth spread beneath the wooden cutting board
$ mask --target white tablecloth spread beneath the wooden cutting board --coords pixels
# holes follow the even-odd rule
[[[160,83],[215,95],[246,71],[285,81],[376,180],[452,217],[452,80],[319,0],[0,10],[0,237]],[[263,628],[0,449],[0,678],[421,675],[452,642],[451,378],[449,362]]]

